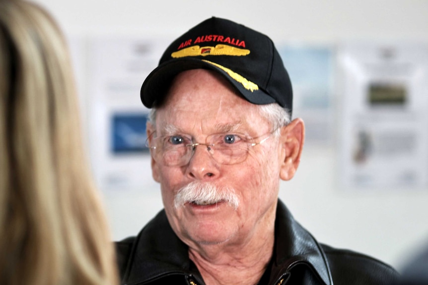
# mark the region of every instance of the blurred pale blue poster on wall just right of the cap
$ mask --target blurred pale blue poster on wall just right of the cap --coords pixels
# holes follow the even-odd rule
[[[305,121],[305,142],[333,141],[333,50],[327,46],[280,45],[293,89],[293,118]]]

